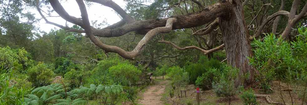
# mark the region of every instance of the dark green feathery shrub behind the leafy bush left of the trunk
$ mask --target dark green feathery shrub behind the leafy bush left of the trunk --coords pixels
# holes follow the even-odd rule
[[[190,83],[194,83],[198,76],[210,71],[210,68],[219,69],[220,67],[220,61],[215,59],[208,60],[206,56],[200,56],[198,63],[192,63],[185,66],[185,71],[187,71],[190,75]]]

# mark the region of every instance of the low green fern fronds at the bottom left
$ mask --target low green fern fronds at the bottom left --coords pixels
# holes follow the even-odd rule
[[[31,94],[27,95],[25,102],[28,105],[83,105],[87,101],[82,97],[88,91],[87,88],[78,88],[70,91],[64,84],[52,84],[35,88]]]

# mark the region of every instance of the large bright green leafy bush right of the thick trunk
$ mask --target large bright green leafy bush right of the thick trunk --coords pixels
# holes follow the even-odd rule
[[[268,34],[263,41],[252,43],[254,56],[249,60],[260,72],[256,80],[263,92],[272,92],[270,84],[275,78],[289,82],[297,78],[290,75],[300,74],[307,68],[306,27],[298,28],[298,33],[291,43],[277,39],[273,34]]]

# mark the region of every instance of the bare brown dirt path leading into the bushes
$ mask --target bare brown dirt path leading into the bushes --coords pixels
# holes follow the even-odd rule
[[[161,98],[168,82],[168,80],[163,80],[147,87],[147,90],[141,94],[141,99],[138,103],[141,105],[164,105]]]

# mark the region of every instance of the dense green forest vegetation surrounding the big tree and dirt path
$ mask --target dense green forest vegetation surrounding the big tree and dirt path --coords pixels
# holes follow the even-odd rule
[[[280,22],[279,25],[277,22],[275,30],[273,20],[270,20],[272,22],[267,26],[264,24],[260,36],[246,38],[251,45],[251,56],[244,56],[248,62],[244,65],[251,66],[254,72],[245,72],[241,69],[242,66],[236,64],[237,60],[229,60],[232,58],[227,56],[229,53],[226,49],[230,48],[229,46],[218,47],[227,43],[225,35],[221,32],[222,26],[214,27],[215,29],[206,35],[196,34],[199,29],[200,32],[205,32],[203,29],[208,28],[209,23],[153,36],[148,44],[142,47],[137,57],[127,60],[122,55],[101,49],[88,33],[71,31],[86,30],[82,25],[73,23],[74,25],[69,27],[66,24],[63,26],[66,29],[51,29],[50,32],[40,30],[40,27],[35,25],[39,20],[44,19],[49,24],[50,22],[45,18],[35,17],[31,11],[24,8],[36,8],[38,11],[39,8],[48,8],[48,11],[43,12],[46,16],[54,17],[50,15],[53,12],[49,11],[53,8],[50,7],[50,1],[53,0],[0,0],[0,105],[137,104],[138,93],[153,84],[154,77],[171,81],[170,88],[166,90],[171,99],[183,98],[182,91],[189,90],[192,85],[193,89],[195,86],[200,87],[201,91],[212,90],[217,97],[226,99],[229,105],[236,96],[246,105],[258,105],[257,97],[277,91],[280,91],[283,104],[286,103],[284,100],[291,100],[292,105],[294,104],[294,98],[291,96],[293,93],[301,102],[295,104],[303,105],[307,102],[305,15],[294,23],[293,29],[290,27],[290,35],[286,39],[282,37],[284,34],[281,34],[289,25],[287,17],[284,16],[278,17]],[[133,22],[146,19],[164,21],[166,19],[163,18],[174,15],[179,17],[200,13],[197,11],[207,11],[209,5],[218,2],[216,0],[179,0],[179,3],[178,0],[154,0],[153,3],[147,0],[124,1],[127,5],[126,14],[133,17]],[[281,1],[286,3],[279,4]],[[293,0],[285,1],[274,0],[268,4],[266,0],[247,0],[246,6],[243,5],[243,15],[246,17],[245,21],[249,23],[245,27],[247,33],[251,36],[256,34],[261,24],[265,23],[265,18],[269,18],[276,11],[292,11],[290,2]],[[86,1],[86,4],[93,5],[90,1]],[[294,12],[298,15],[299,11],[304,12],[304,4],[307,5],[306,1],[302,1],[298,5],[298,10]],[[268,5],[271,7],[266,7]],[[279,9],[279,5],[284,5],[284,8]],[[123,17],[121,13],[119,15]],[[294,17],[298,15],[294,13]],[[214,22],[216,21],[212,21],[211,24]],[[106,21],[102,23],[91,21],[90,24],[91,28],[96,29],[111,27]],[[116,30],[112,31],[113,33],[121,31],[113,29]],[[97,40],[132,51],[139,41],[146,39],[142,31],[149,30],[134,30],[125,33],[126,35],[101,37]],[[169,41],[162,43],[165,40]],[[181,49],[184,50],[178,47],[183,47]],[[191,47],[202,50],[193,50]],[[210,53],[203,51],[215,47],[220,49]],[[242,49],[236,51],[244,52]],[[276,81],[279,83],[279,90],[272,89],[272,84]],[[281,83],[286,84],[287,89],[293,92],[285,91],[291,99],[283,98]],[[256,94],[255,89],[259,89],[261,95]]]

